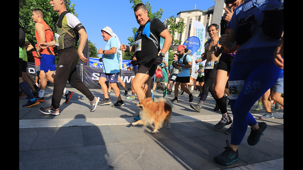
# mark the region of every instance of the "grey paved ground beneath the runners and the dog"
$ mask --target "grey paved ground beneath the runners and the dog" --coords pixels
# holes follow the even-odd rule
[[[213,157],[224,151],[230,135],[224,134],[230,126],[222,130],[214,129],[221,118],[220,111],[213,111],[215,100],[208,95],[202,111],[196,112],[190,104],[197,104],[197,91],[194,101],[189,103],[188,94],[178,96],[174,103],[171,128],[166,125],[156,134],[153,126],[133,126],[133,119],[139,114],[136,100],[122,100],[125,105],[119,108],[111,105],[117,101],[115,93],[109,95],[110,105],[97,106],[90,112],[88,99],[73,88],[74,94],[68,104],[62,96],[60,115],[45,115],[38,108],[50,106],[53,87],[47,87],[45,102],[30,108],[22,105],[28,101],[19,99],[19,169],[117,169],[117,170],[162,170],[162,169],[271,169],[284,168],[284,119],[283,109],[274,110],[274,118],[258,119],[264,110],[250,112],[258,122],[266,122],[256,146],[246,142],[250,134],[247,129],[239,146],[239,161],[226,166],[217,164]],[[104,98],[101,89],[91,89],[92,93]],[[124,89],[121,89],[124,94]],[[129,92],[129,95],[131,92]],[[155,92],[154,97],[163,95]],[[173,98],[166,96],[165,98]],[[228,106],[228,112],[231,113]],[[232,115],[231,115],[232,117]]]

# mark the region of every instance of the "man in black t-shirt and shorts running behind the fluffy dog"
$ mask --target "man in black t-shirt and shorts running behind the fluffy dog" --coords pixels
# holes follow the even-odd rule
[[[134,15],[140,25],[135,34],[135,44],[131,47],[125,44],[120,46],[121,51],[136,53],[136,59],[139,64],[138,73],[131,85],[136,90],[139,101],[152,97],[150,90],[152,76],[155,73],[156,66],[161,64],[172,42],[172,36],[164,24],[159,19],[149,19],[147,14],[148,11],[144,4],[139,3],[134,7]],[[161,52],[159,47],[160,37],[164,39]],[[159,52],[160,54],[158,54]],[[139,118],[135,120],[139,120]]]

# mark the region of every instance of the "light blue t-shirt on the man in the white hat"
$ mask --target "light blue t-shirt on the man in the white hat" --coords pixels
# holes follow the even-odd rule
[[[115,37],[111,37],[104,48],[105,51],[110,50],[111,48],[117,48],[115,54],[103,54],[103,73],[119,73],[120,64],[119,64],[119,53],[118,53],[118,40]]]

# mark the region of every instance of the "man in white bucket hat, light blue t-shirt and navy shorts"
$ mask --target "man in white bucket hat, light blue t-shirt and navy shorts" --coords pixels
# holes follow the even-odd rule
[[[103,62],[103,72],[99,78],[99,84],[101,85],[104,99],[98,102],[98,105],[106,105],[112,103],[107,93],[107,85],[105,81],[109,82],[109,85],[113,88],[118,101],[113,104],[113,107],[120,107],[124,105],[124,102],[120,95],[120,89],[117,86],[117,80],[120,72],[119,55],[118,55],[118,40],[113,37],[113,30],[110,27],[105,27],[101,30],[103,40],[107,42],[104,50],[101,48],[98,50],[98,54],[102,54],[100,61]]]

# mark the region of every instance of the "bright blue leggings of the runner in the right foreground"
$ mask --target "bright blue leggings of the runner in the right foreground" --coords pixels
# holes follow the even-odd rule
[[[254,103],[278,80],[281,69],[273,59],[233,63],[228,81],[244,80],[244,86],[237,98],[230,99],[233,112],[233,129],[230,143],[240,145],[247,126],[254,126],[257,121],[250,114]]]

